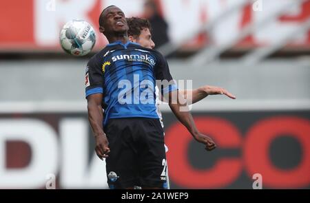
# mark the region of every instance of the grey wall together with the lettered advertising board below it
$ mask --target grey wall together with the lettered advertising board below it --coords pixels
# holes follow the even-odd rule
[[[106,188],[105,163],[94,154],[87,122],[84,65],[0,62],[1,189],[45,188],[52,180],[60,189]],[[169,65],[193,87],[218,85],[237,96],[192,105],[198,128],[218,144],[212,152],[161,107],[172,188],[251,189],[256,173],[265,189],[310,188],[309,63]]]

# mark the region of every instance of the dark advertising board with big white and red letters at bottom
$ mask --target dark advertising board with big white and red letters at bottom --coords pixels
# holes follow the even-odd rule
[[[218,145],[208,152],[165,111],[171,187],[252,189],[259,173],[264,189],[310,189],[309,112],[193,111]],[[0,114],[0,146],[1,189],[107,188],[85,112]]]

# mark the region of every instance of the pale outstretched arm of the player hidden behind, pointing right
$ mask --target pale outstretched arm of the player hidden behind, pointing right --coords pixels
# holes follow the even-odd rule
[[[226,89],[222,87],[210,86],[205,85],[203,87],[199,87],[198,89],[184,89],[179,90],[180,94],[187,100],[187,104],[191,105],[197,103],[198,101],[202,100],[203,98],[207,97],[208,95],[215,95],[215,94],[225,94],[229,98],[235,99],[236,96],[228,92]],[[192,95],[192,99],[187,96]]]

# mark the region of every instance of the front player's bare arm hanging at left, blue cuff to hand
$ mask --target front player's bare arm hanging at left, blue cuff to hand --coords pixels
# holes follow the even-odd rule
[[[88,120],[90,121],[90,126],[94,133],[94,138],[96,142],[95,151],[97,156],[103,160],[107,158],[107,153],[110,152],[107,142],[107,137],[103,131],[103,111],[101,107],[102,94],[92,94],[87,96],[87,112]]]

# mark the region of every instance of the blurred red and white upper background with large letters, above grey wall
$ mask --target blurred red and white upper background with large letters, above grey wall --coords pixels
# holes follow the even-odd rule
[[[98,19],[110,5],[119,6],[127,17],[149,19],[155,48],[173,58],[203,52],[210,60],[257,61],[310,52],[308,0],[14,0],[2,5],[2,59],[69,57],[59,45],[59,31],[72,19],[83,19],[95,28],[94,54],[108,43],[99,32]]]

